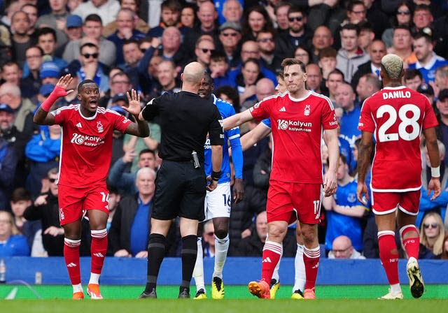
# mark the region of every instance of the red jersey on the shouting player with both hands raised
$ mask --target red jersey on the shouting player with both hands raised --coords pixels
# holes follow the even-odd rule
[[[69,105],[50,114],[62,126],[59,184],[75,188],[106,182],[111,166],[112,133],[125,132],[132,122],[118,112],[97,108],[92,117],[84,117],[80,104]]]

